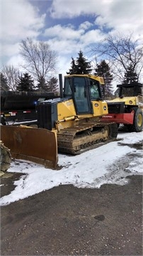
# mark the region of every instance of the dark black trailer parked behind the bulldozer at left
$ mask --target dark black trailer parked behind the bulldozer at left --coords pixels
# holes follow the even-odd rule
[[[36,124],[37,104],[57,97],[54,92],[1,90],[1,124]]]

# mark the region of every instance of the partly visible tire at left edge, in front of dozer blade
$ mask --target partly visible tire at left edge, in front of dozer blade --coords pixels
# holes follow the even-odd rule
[[[1,145],[1,171],[6,172],[8,168],[11,166],[11,153],[10,150],[4,146],[4,144],[0,141]]]

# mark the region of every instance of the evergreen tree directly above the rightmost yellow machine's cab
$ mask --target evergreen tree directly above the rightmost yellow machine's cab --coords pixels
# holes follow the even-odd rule
[[[137,73],[135,72],[134,68],[132,67],[132,65],[129,65],[122,83],[130,84],[132,82],[138,82],[138,76],[137,76]]]

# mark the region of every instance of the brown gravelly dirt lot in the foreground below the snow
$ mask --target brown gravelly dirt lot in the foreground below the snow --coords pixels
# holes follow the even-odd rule
[[[20,174],[2,176],[1,196]],[[1,255],[142,255],[142,176],[58,186],[1,207]]]

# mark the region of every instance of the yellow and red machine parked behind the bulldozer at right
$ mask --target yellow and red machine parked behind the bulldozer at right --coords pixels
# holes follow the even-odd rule
[[[128,132],[142,132],[143,129],[143,96],[142,84],[117,85],[119,97],[108,100],[108,114],[102,117],[103,122],[124,124]]]

